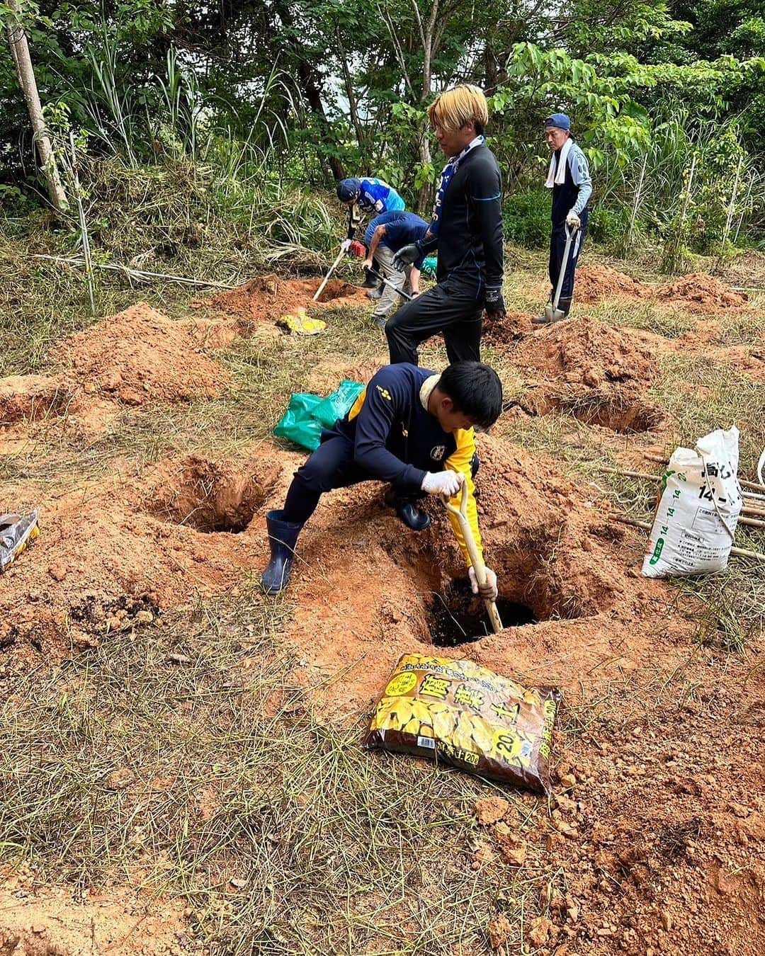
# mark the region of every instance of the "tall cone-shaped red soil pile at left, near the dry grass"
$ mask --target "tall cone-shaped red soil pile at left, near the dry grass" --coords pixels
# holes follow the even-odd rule
[[[192,323],[174,322],[145,302],[65,339],[59,359],[85,392],[131,405],[217,395],[230,373],[199,350]]]

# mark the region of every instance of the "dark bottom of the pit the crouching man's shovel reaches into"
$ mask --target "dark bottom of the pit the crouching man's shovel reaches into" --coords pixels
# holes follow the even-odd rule
[[[496,609],[505,627],[537,623],[534,611],[518,601],[498,597]],[[467,577],[455,578],[443,595],[433,595],[428,607],[428,628],[437,647],[458,647],[492,634],[484,602],[472,594]]]

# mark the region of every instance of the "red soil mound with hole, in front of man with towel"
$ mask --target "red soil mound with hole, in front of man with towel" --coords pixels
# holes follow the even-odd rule
[[[590,316],[542,326],[507,354],[529,385],[524,409],[571,411],[588,424],[645,431],[664,415],[645,399],[658,374],[656,360],[637,337]]]

